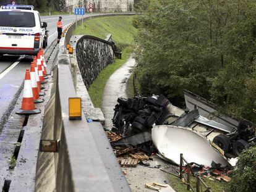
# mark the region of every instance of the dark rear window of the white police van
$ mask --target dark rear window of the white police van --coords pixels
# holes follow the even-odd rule
[[[35,27],[31,12],[0,11],[0,27]]]

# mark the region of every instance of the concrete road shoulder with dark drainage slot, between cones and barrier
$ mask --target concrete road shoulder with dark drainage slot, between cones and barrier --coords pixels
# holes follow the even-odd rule
[[[56,49],[57,46],[56,41],[53,41],[45,52],[48,72],[53,67],[58,52],[58,49]],[[51,80],[51,77],[49,80]],[[49,90],[49,87],[51,87],[51,83],[45,85],[44,91]],[[10,143],[8,146],[9,150],[6,147],[4,154],[1,154],[5,159],[10,159],[9,163],[6,159],[6,163],[0,166],[0,186],[2,191],[20,191],[22,187],[25,187],[26,190],[34,190],[35,174],[33,172],[35,173],[36,171],[35,165],[42,127],[41,119],[43,118],[43,112],[48,98],[49,94],[46,94],[44,96],[45,102],[36,104],[36,107],[41,109],[41,114],[31,116],[15,114],[20,108],[22,95],[17,98],[14,110],[9,115],[9,119],[6,121],[1,134],[1,137],[5,137],[6,140],[9,139],[8,143]],[[27,173],[24,170],[27,170]]]

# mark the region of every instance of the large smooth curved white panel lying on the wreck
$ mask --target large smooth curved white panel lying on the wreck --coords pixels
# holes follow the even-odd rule
[[[187,162],[195,162],[211,167],[211,162],[229,165],[220,151],[211,146],[210,141],[184,127],[159,125],[152,128],[151,137],[156,149],[164,159],[180,163],[182,153]]]

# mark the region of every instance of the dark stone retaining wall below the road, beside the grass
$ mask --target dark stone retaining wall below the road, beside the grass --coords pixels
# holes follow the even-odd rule
[[[101,70],[113,64],[115,59],[113,44],[94,36],[82,36],[77,42],[75,51],[83,82],[87,88]]]

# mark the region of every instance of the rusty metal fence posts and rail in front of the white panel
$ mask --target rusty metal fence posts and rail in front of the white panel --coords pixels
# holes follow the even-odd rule
[[[186,165],[184,164],[184,162],[186,163]],[[183,167],[186,167],[186,169],[187,169],[186,173],[183,172]],[[180,164],[179,164],[179,178],[181,180],[182,180],[182,178],[185,180],[185,183],[187,185],[187,190],[188,191],[192,190],[194,192],[195,191],[200,192],[200,191],[202,191],[201,189],[202,189],[202,186],[203,186],[204,188],[206,188],[206,190],[204,192],[212,192],[210,186],[207,186],[205,184],[205,182],[203,182],[202,178],[199,177],[199,176],[196,176],[196,178],[197,178],[197,187],[196,187],[196,189],[194,189],[190,184],[190,176],[192,176],[190,173],[193,173],[193,171],[191,169],[191,166],[186,161],[186,159],[184,159],[183,154],[181,154],[181,159],[180,159]],[[187,177],[184,177],[184,174],[186,174]]]

